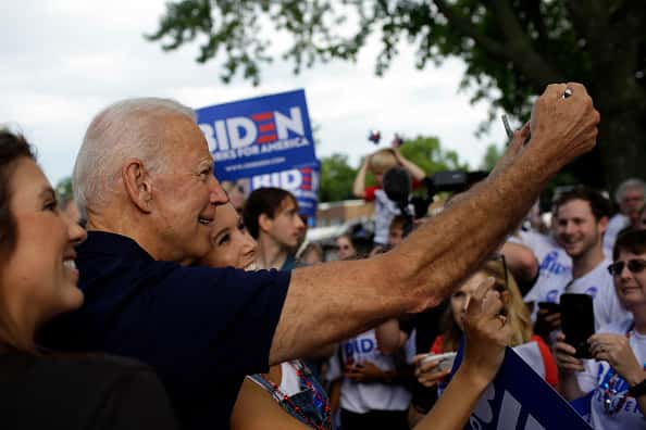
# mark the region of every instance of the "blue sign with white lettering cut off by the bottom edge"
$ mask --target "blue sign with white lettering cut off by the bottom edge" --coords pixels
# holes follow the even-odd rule
[[[459,366],[461,349],[454,365]],[[508,347],[494,382],[477,402],[465,430],[591,430],[592,427]]]

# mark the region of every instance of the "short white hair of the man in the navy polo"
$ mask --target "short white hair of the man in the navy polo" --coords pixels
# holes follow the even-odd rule
[[[126,159],[141,160],[150,172],[163,170],[164,124],[171,115],[196,121],[190,108],[158,98],[122,100],[95,116],[83,139],[72,176],[74,198],[85,219],[87,208],[101,207],[109,202]]]

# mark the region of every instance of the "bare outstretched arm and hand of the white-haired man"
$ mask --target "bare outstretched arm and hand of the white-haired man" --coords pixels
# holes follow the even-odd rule
[[[573,94],[561,99],[566,88]],[[294,270],[270,364],[307,356],[448,296],[515,228],[547,181],[595,144],[599,115],[581,85],[549,86],[532,115],[531,144],[523,147],[526,134],[517,131],[487,180],[392,252]]]

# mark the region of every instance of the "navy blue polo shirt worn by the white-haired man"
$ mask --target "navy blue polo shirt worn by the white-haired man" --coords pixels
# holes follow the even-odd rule
[[[77,248],[83,307],[39,341],[151,365],[184,428],[227,429],[245,375],[268,371],[289,273],[157,262],[132,239],[90,231]]]

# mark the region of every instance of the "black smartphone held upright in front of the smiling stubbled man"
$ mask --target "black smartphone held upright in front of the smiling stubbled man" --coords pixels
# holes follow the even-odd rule
[[[561,328],[566,342],[576,349],[576,358],[592,358],[587,339],[595,333],[593,298],[587,294],[561,294]]]

